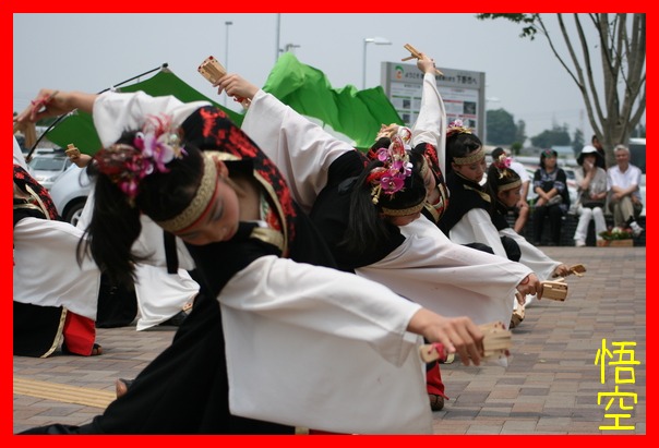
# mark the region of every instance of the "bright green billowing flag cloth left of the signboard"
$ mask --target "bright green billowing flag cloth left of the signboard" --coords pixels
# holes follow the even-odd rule
[[[279,57],[263,90],[298,113],[330,124],[359,148],[373,144],[382,124],[405,124],[381,86],[366,90],[352,85],[332,88],[323,72],[301,63],[290,52]]]

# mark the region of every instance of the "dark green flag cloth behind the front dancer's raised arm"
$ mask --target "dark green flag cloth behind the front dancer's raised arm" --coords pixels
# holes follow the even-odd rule
[[[117,92],[139,90],[143,90],[152,96],[173,95],[183,102],[197,100],[211,101],[214,106],[223,109],[229,116],[229,119],[238,126],[242,124],[244,118],[240,113],[225,109],[217,102],[190,87],[167,68],[163,68],[163,70],[148,80],[117,88]],[[94,121],[92,120],[92,116],[86,112],[77,111],[70,117],[62,119],[61,122],[46,134],[46,137],[62,148],[65,148],[67,145],[72,143],[81,150],[81,153],[88,155],[94,155],[100,149],[100,140],[94,128]]]

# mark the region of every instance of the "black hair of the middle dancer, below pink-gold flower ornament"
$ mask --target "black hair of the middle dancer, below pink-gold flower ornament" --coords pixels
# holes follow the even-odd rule
[[[356,254],[356,256],[372,251],[384,239],[388,239],[391,234],[388,229],[392,225],[381,216],[383,208],[405,209],[415,207],[426,201],[426,183],[421,175],[423,156],[411,152],[408,152],[408,154],[412,164],[412,171],[411,175],[405,180],[404,189],[393,195],[381,193],[376,205],[373,204],[372,185],[367,183],[367,178],[371,170],[382,167],[383,162],[380,160],[369,162],[354,181],[350,193],[348,227],[339,246]]]

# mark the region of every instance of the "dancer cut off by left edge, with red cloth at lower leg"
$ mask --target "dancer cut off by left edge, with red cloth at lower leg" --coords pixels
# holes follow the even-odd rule
[[[59,220],[48,191],[24,168],[13,167],[13,353],[47,358],[103,354],[96,340],[100,271],[76,257],[82,231]]]

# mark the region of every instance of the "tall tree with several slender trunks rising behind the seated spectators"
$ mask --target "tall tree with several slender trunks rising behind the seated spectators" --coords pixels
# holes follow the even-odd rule
[[[646,16],[643,13],[574,13],[577,37],[573,38],[565,14],[555,14],[568,53],[562,55],[556,49],[556,36],[548,32],[544,15],[477,14],[477,17],[507,19],[524,25],[520,37],[534,39],[540,33],[547,38],[553,55],[579,88],[590,125],[604,147],[607,162],[613,165],[613,147],[628,141],[645,113]],[[588,23],[596,29],[596,41],[588,41],[586,37],[584,25]],[[591,51],[595,49],[600,53],[603,85],[598,85],[594,77],[597,62]]]

